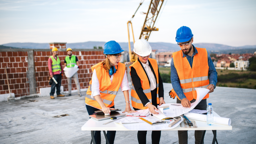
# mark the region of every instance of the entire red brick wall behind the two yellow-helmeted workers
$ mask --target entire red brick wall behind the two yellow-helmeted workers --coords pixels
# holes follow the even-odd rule
[[[11,93],[15,97],[29,95],[29,81],[27,79],[28,73],[28,53],[31,49],[1,49],[1,67],[0,67],[0,94],[9,93],[4,66],[7,67],[7,74],[10,84]],[[61,64],[64,66],[64,59],[67,56],[66,49],[59,51],[59,58]],[[73,49],[73,54],[78,57],[80,62],[80,69],[78,71],[78,78],[81,88],[88,88],[91,80],[92,71],[91,66],[104,60],[103,50],[92,49]],[[48,58],[52,55],[50,49],[34,50],[34,65],[35,65],[35,81],[36,93],[39,93],[39,88],[50,87],[48,84],[49,70]],[[67,77],[63,75],[61,85],[64,91],[68,91]],[[76,90],[74,80],[72,80],[72,90]]]

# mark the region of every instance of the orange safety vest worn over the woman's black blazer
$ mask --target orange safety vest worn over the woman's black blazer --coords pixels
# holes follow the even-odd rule
[[[148,61],[151,63],[152,67],[153,67],[153,72],[155,72],[156,74],[156,80],[157,80],[157,104],[159,104],[159,97],[158,97],[158,65],[155,59],[151,59],[148,58]],[[136,60],[132,65],[130,65],[130,75],[131,75],[131,67],[133,67],[138,76],[141,79],[141,86],[143,89],[143,92],[145,93],[145,95],[147,96],[148,100],[150,101],[150,103],[152,104],[152,97],[151,97],[151,90],[150,90],[150,84],[149,84],[149,80],[147,78],[146,73],[143,70],[143,67],[141,66],[140,62],[138,60]],[[134,108],[138,108],[138,109],[147,109],[148,107],[145,107],[139,96],[137,95],[135,88],[132,84],[132,91],[131,91],[131,99],[132,99],[132,106]]]

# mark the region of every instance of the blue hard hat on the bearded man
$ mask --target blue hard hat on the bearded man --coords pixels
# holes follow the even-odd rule
[[[182,26],[176,32],[176,42],[189,41],[194,35],[189,27]]]

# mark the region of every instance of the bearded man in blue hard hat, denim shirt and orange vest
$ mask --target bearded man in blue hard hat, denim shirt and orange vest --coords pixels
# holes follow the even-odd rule
[[[204,48],[192,45],[194,35],[189,27],[182,26],[176,32],[176,42],[181,50],[173,53],[171,61],[171,81],[173,89],[169,92],[172,98],[177,96],[177,103],[183,107],[191,106],[196,101],[195,88],[207,88],[209,93],[214,91],[217,83],[217,72],[210,54]],[[208,78],[209,75],[209,78]],[[209,93],[196,105],[194,109],[206,110],[206,98]],[[203,130],[195,130],[195,143],[199,144]],[[188,143],[187,130],[178,131],[179,144]]]

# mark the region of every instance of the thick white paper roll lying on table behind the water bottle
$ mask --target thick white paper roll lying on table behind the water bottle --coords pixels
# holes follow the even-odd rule
[[[207,121],[207,115],[196,114],[196,113],[186,113],[184,115],[189,119],[200,120],[200,121],[205,121],[205,122]],[[230,126],[231,119],[225,118],[225,117],[214,116],[214,114],[213,114],[213,123]]]

